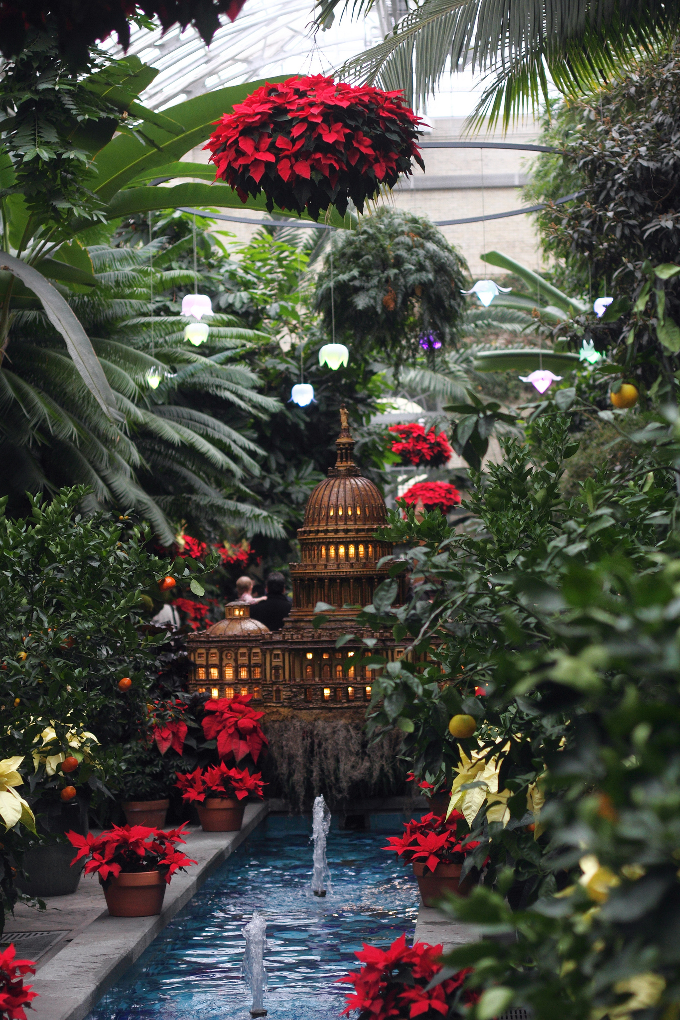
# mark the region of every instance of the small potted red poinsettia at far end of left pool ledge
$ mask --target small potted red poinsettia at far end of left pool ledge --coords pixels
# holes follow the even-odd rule
[[[262,799],[262,776],[247,769],[227,768],[224,762],[182,775],[175,783],[181,799],[196,804],[204,832],[236,832],[244,820],[246,798],[254,794]]]

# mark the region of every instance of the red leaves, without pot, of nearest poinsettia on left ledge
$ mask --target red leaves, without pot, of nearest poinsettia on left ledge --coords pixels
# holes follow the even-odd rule
[[[188,865],[197,863],[176,849],[177,844],[187,843],[186,835],[185,825],[169,832],[146,825],[113,825],[99,835],[66,832],[66,838],[77,850],[71,867],[87,858],[86,875],[98,872],[102,885],[117,878],[121,871],[162,871],[169,883],[175,871],[186,871]]]

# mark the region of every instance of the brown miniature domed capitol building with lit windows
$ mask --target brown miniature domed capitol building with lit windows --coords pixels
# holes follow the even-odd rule
[[[393,547],[374,538],[385,522],[384,500],[354,462],[344,407],[341,422],[335,466],[312,492],[298,530],[301,562],[291,564],[293,609],[282,628],[272,632],[250,618],[248,605],[228,603],[224,620],[188,638],[192,691],[213,698],[250,694],[254,702],[267,706],[270,718],[319,709],[363,713],[371,697],[372,672],[354,665],[353,660],[367,653],[361,639],[377,636],[374,652],[387,659],[402,654],[389,630],[378,633],[353,623],[384,580],[386,568],[377,564]],[[398,602],[404,595],[402,576]],[[327,610],[332,619],[315,630],[312,621],[319,602],[334,609]],[[337,638],[348,631],[354,640],[336,649]],[[271,709],[280,713],[272,715]]]

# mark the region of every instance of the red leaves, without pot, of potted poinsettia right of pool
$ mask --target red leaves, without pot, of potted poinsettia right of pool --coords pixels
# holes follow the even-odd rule
[[[405,864],[413,861],[425,865],[433,872],[437,864],[462,864],[472,853],[479,840],[469,839],[470,829],[465,817],[459,811],[446,815],[430,812],[420,821],[412,819],[404,825],[404,835],[387,836],[388,847]]]

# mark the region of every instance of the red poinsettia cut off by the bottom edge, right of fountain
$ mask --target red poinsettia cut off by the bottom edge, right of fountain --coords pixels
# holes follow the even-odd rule
[[[441,970],[437,962],[442,946],[416,942],[406,945],[406,934],[400,935],[388,950],[367,946],[355,953],[363,964],[361,970],[338,978],[354,985],[348,993],[347,1007],[341,1014],[347,1016],[359,1010],[358,1020],[389,1020],[389,1018],[434,1017],[451,1015],[452,1006],[472,1006],[479,1001],[479,992],[465,987],[465,979],[472,968],[459,970],[433,988],[428,984]]]

